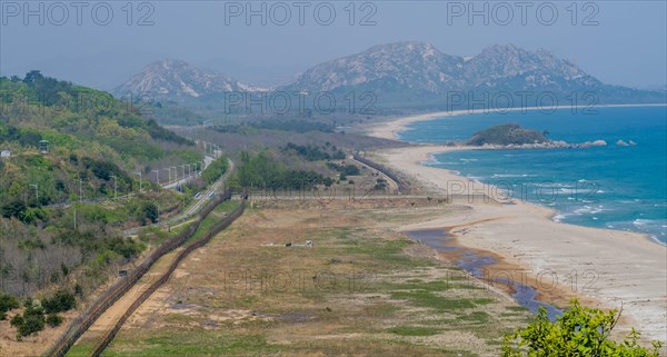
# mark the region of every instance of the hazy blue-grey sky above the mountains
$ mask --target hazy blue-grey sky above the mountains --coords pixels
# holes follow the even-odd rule
[[[248,3],[135,1],[130,12],[127,1],[0,0],[0,71],[42,69],[110,88],[169,57],[258,82],[285,80],[374,44],[420,40],[459,56],[475,56],[494,43],[546,48],[608,83],[667,83],[663,0],[576,7],[570,1],[252,1],[249,9]],[[27,10],[37,14],[26,18]],[[259,10],[267,23],[256,14],[248,24],[249,10]],[[471,10],[480,14],[470,19]]]

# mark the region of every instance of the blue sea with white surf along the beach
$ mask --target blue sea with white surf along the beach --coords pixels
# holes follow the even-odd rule
[[[667,244],[667,107],[601,107],[490,112],[415,122],[400,138],[465,141],[497,123],[546,130],[552,140],[607,146],[577,149],[464,150],[427,165],[457,171],[548,206],[557,221],[638,231]],[[633,141],[636,145],[618,145]]]

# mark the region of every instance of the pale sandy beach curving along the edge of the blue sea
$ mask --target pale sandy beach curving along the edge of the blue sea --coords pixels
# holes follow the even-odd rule
[[[396,139],[408,123],[461,113],[468,111],[400,118],[375,125],[368,135]],[[526,282],[545,296],[570,291],[604,308],[623,308],[619,333],[634,326],[644,338],[667,340],[667,247],[640,234],[556,222],[554,210],[517,199],[508,205],[469,200],[472,191],[501,195],[492,186],[421,165],[434,153],[460,149],[419,145],[376,153],[427,190],[457,194],[455,202],[471,208],[400,230],[450,229],[458,245],[494,252],[509,266],[527,269]]]

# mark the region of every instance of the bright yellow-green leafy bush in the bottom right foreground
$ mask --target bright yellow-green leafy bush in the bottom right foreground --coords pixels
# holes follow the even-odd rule
[[[634,328],[623,341],[609,339],[620,313],[587,308],[574,299],[556,321],[539,308],[535,321],[524,329],[505,336],[502,357],[657,357],[660,341],[647,349],[637,345],[639,333]]]

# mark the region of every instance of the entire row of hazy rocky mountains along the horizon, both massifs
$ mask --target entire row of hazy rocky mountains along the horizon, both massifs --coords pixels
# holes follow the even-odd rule
[[[263,89],[182,61],[163,60],[147,66],[115,93],[149,91],[158,99],[188,100],[239,90]],[[571,92],[595,92],[600,102],[665,101],[661,91],[605,85],[547,50],[531,52],[514,44],[496,44],[475,57],[464,58],[417,41],[379,44],[317,65],[292,83],[275,90],[336,95],[374,91],[379,103],[384,99],[385,105],[407,107],[437,106],[452,91],[539,90],[563,98]]]

